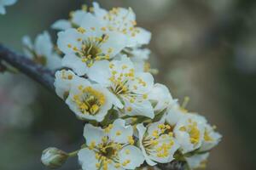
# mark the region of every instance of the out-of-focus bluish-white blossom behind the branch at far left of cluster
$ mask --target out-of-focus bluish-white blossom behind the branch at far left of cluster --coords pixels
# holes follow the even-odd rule
[[[47,31],[39,34],[34,44],[28,36],[23,37],[22,42],[24,53],[34,62],[45,65],[51,70],[61,68],[61,57],[55,52]]]

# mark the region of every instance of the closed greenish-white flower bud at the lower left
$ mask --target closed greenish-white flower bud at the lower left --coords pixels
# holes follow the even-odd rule
[[[47,148],[43,151],[41,161],[44,166],[55,169],[61,167],[67,161],[68,154],[57,148]]]

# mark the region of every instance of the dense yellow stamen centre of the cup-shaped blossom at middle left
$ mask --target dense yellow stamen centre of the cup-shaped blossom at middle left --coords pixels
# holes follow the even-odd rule
[[[105,96],[91,87],[86,87],[81,94],[73,96],[74,102],[84,114],[96,115],[102,105],[105,104]]]

